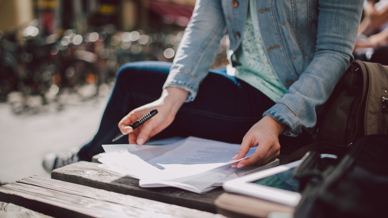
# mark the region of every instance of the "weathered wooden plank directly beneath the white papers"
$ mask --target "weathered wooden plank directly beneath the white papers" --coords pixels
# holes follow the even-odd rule
[[[97,167],[97,165],[99,164],[80,161],[53,170],[51,178],[211,213],[217,213],[214,201],[224,192],[222,188],[205,194],[196,194],[173,187],[142,188],[139,187],[139,180],[116,175]]]

